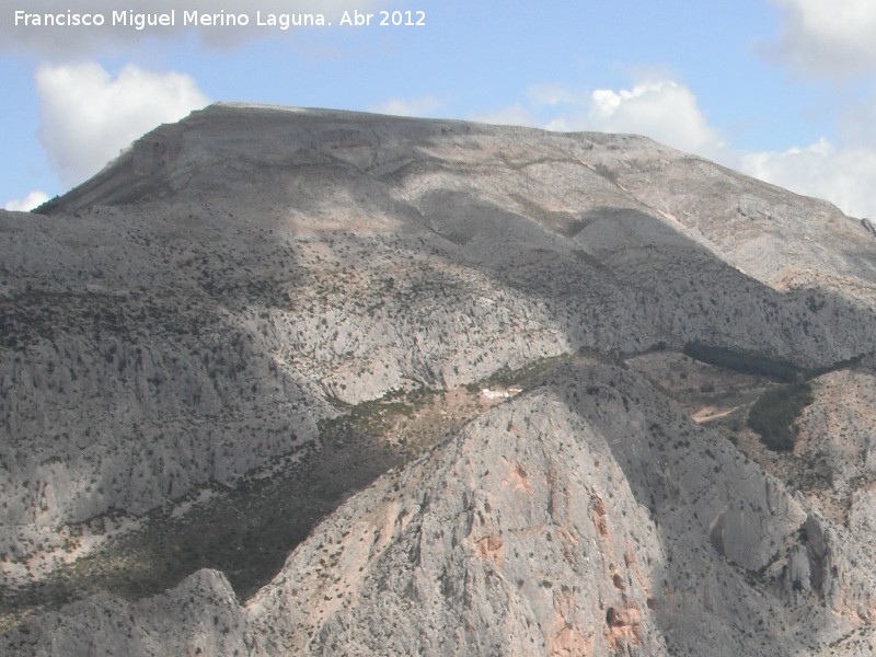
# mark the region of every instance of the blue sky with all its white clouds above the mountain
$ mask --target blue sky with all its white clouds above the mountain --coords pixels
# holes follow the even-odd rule
[[[876,216],[873,34],[872,0],[0,0],[0,207],[235,101],[636,132]]]

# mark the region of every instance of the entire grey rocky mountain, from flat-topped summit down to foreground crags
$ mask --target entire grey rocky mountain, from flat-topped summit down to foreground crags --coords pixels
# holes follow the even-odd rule
[[[643,137],[230,104],[38,212],[7,652],[871,654],[867,220]]]

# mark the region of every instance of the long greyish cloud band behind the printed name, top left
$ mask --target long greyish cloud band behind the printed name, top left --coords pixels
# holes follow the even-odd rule
[[[273,38],[288,34],[298,27],[290,26],[281,30],[276,26],[258,26],[256,11],[263,16],[268,13],[301,14],[321,13],[326,21],[337,25],[343,11],[358,9],[364,11],[374,4],[376,0],[251,0],[245,4],[217,3],[216,0],[187,0],[180,3],[177,0],[152,0],[149,3],[119,3],[117,0],[79,0],[71,3],[68,0],[28,0],[20,2],[19,7],[4,8],[3,19],[0,21],[0,44],[14,50],[31,50],[48,55],[83,55],[94,54],[107,46],[122,46],[128,48],[130,44],[148,38],[180,37],[187,33],[196,33],[201,43],[214,47],[227,47],[239,44],[250,38]],[[146,7],[143,7],[146,5]],[[23,25],[20,21],[15,25],[14,10],[33,14],[57,14],[67,20],[68,11],[76,14],[101,14],[104,18],[102,26],[39,26]],[[157,15],[175,10],[174,25],[135,26],[113,25],[113,12],[118,11],[135,14]],[[217,15],[214,25],[185,25],[184,11],[197,11],[200,14]],[[245,14],[249,25],[229,25],[228,16]],[[129,21],[130,23],[130,21]],[[226,23],[226,24],[223,24]],[[0,45],[0,47],[2,47]]]

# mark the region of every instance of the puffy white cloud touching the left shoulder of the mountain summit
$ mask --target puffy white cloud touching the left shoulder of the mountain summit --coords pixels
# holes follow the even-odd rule
[[[135,66],[116,79],[97,64],[43,67],[36,88],[39,141],[66,184],[82,182],[157,125],[208,102],[188,76]]]

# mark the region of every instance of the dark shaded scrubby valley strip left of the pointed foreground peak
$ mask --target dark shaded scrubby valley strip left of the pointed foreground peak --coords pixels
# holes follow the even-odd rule
[[[54,609],[102,591],[128,599],[153,596],[200,568],[223,572],[239,599],[246,599],[346,497],[402,461],[374,437],[334,433],[320,450],[274,474],[201,489],[210,494],[188,496],[194,504],[184,516],[173,507],[150,511],[139,529],[97,553],[39,583],[5,590],[2,615]]]

